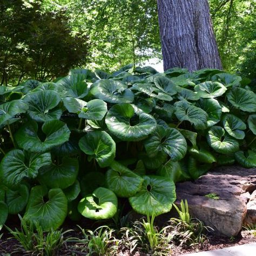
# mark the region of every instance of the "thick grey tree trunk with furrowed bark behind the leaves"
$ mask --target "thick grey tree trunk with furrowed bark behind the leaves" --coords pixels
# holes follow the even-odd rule
[[[222,69],[207,0],[157,0],[164,70]]]

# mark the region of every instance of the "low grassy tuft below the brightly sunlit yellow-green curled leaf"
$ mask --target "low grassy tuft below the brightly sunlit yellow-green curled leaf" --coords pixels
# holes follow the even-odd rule
[[[79,227],[79,226],[78,226]],[[113,237],[114,230],[108,226],[100,226],[95,231],[82,231],[83,238],[70,238],[68,241],[76,242],[75,250],[87,252],[87,255],[111,255],[117,251],[119,240]]]

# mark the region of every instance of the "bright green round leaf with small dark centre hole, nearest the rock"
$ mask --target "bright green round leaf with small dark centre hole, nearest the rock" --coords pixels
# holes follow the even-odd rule
[[[142,188],[129,198],[133,210],[156,216],[169,212],[176,200],[173,181],[160,176],[143,176],[143,179]]]

